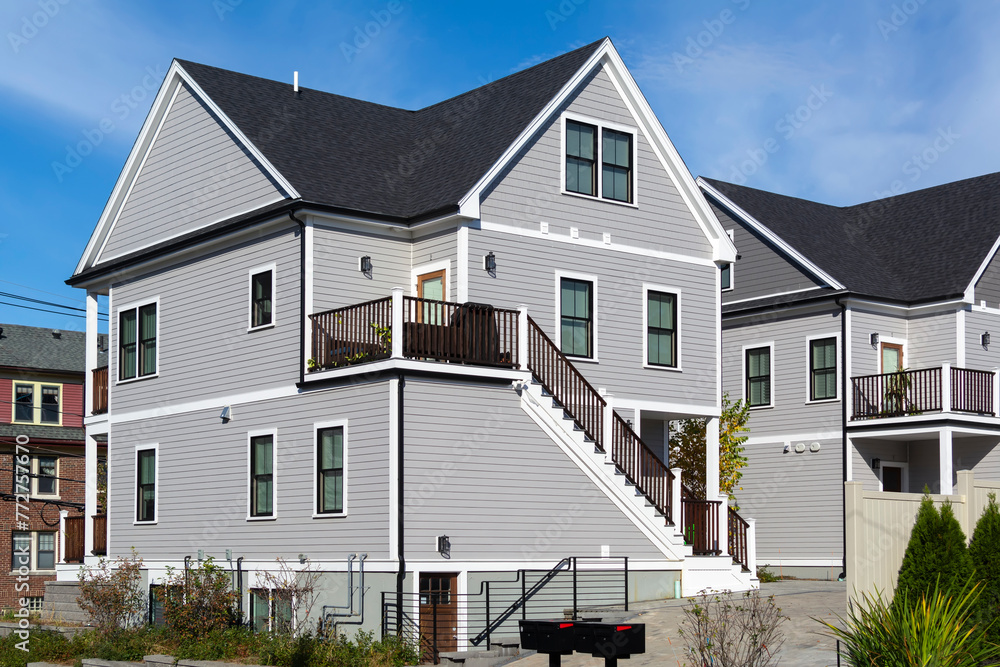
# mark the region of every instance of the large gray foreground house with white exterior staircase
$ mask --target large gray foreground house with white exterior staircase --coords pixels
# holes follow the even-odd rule
[[[420,111],[175,61],[69,280],[95,350],[110,301],[109,553],[301,554],[369,629],[457,600],[460,646],[483,582],[568,556],[628,556],[632,599],[754,586],[718,501],[735,256],[610,40]],[[663,462],[682,417],[708,499]]]

